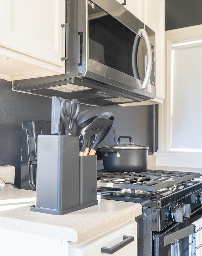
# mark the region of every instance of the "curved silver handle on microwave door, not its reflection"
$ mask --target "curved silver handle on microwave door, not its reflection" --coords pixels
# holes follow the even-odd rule
[[[151,52],[151,44],[149,41],[149,37],[146,33],[146,30],[144,28],[142,28],[141,33],[142,33],[142,37],[145,40],[146,53],[147,53],[147,66],[146,66],[145,78],[142,83],[142,89],[145,89],[149,82],[150,76],[151,76],[152,52]]]

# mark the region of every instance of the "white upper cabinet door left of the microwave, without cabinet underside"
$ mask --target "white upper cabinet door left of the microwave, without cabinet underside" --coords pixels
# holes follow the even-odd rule
[[[65,0],[1,0],[0,45],[63,66]]]

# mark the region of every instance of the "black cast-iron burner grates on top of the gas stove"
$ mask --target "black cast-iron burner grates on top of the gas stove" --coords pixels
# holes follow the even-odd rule
[[[180,188],[189,186],[189,181],[200,177],[199,173],[173,172],[147,170],[141,173],[110,173],[99,171],[97,173],[98,189],[105,190],[130,190],[132,194],[136,191],[159,192],[169,188]],[[146,193],[145,192],[145,193]]]

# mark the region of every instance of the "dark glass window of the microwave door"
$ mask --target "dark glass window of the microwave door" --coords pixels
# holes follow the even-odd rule
[[[95,4],[93,7],[88,4],[88,15],[89,58],[129,76],[144,79],[143,58],[138,64],[139,75],[134,74],[132,64],[134,40],[139,36]]]

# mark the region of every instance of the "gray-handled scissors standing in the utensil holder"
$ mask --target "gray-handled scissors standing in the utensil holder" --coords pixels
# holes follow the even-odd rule
[[[74,135],[74,123],[79,113],[79,101],[63,99],[60,105],[60,115],[64,123],[65,135]]]

